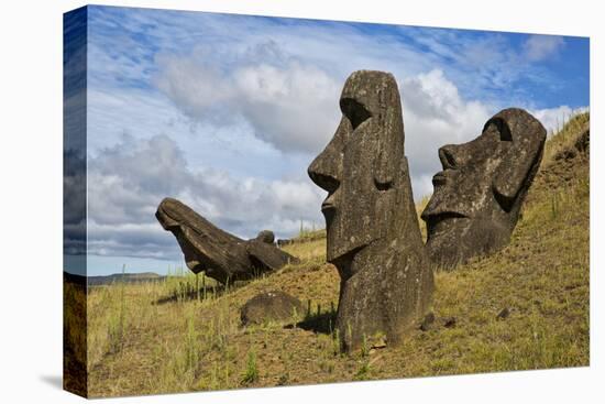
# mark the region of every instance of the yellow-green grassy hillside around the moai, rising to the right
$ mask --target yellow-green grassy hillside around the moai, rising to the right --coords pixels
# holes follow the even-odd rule
[[[89,394],[587,365],[587,114],[576,117],[548,141],[506,249],[436,274],[436,321],[403,345],[338,351],[338,273],[326,263],[324,238],[307,237],[285,248],[301,264],[228,290],[191,274],[89,290]],[[241,327],[239,308],[268,290],[310,310]]]

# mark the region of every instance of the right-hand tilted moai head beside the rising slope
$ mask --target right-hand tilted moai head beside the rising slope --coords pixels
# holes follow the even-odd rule
[[[544,141],[536,118],[509,108],[473,141],[439,149],[443,171],[433,176],[435,192],[422,212],[433,263],[452,269],[509,242]]]

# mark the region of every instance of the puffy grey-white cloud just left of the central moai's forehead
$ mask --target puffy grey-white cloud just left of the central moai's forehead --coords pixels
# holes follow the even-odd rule
[[[229,74],[218,61],[162,56],[157,87],[198,122],[232,124],[243,118],[254,135],[284,152],[311,152],[338,122],[340,86],[320,68],[243,64]]]

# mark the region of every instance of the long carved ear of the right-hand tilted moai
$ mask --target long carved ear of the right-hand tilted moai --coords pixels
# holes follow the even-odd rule
[[[485,128],[496,124],[501,141],[512,142],[493,182],[494,194],[505,210],[510,210],[517,195],[529,186],[540,161],[546,141],[542,124],[520,109],[508,109],[487,121]]]

